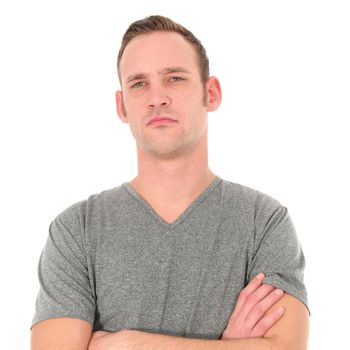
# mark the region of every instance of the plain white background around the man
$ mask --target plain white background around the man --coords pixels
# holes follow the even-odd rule
[[[309,349],[344,349],[349,303],[348,1],[1,1],[1,348],[29,348],[48,226],[136,172],[115,112],[134,20],[198,36],[223,89],[210,166],[289,208],[307,259]]]

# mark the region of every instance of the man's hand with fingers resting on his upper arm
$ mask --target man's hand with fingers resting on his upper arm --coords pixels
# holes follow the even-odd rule
[[[269,310],[284,292],[263,284],[264,278],[260,273],[242,289],[221,339],[263,337],[283,316],[283,307]]]

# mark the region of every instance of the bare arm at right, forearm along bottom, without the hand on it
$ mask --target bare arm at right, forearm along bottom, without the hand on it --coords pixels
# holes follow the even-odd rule
[[[124,330],[94,333],[89,350],[305,350],[309,317],[306,307],[288,294],[277,304],[273,310],[282,306],[284,317],[261,338],[202,340]]]

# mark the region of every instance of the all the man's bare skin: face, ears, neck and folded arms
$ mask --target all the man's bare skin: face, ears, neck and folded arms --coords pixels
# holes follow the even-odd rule
[[[119,71],[117,111],[130,125],[137,147],[138,174],[131,185],[159,216],[174,222],[215,178],[208,167],[207,122],[208,112],[221,102],[219,81],[201,81],[195,50],[171,32],[134,38]],[[263,284],[263,278],[243,289],[220,340],[137,330],[91,333],[85,321],[59,318],[33,327],[32,350],[306,349],[305,305]]]

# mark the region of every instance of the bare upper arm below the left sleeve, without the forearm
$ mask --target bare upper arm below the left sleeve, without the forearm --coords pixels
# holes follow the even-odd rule
[[[31,350],[86,350],[92,326],[75,318],[53,318],[32,328]]]

